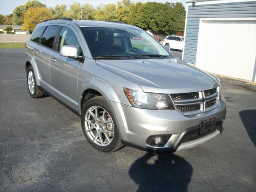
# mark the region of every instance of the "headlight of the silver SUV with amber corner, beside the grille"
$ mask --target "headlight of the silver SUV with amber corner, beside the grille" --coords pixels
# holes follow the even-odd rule
[[[124,94],[133,107],[142,109],[174,110],[168,94],[145,93],[124,88]]]

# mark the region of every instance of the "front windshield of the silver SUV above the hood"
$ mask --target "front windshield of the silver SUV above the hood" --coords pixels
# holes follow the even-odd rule
[[[141,29],[126,26],[80,29],[95,59],[173,57],[156,39]]]

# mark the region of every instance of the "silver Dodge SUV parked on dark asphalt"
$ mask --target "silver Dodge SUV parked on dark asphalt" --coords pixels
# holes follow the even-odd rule
[[[88,142],[104,152],[174,152],[223,131],[218,77],[134,26],[46,20],[26,43],[26,74],[30,96],[46,93],[78,114]]]

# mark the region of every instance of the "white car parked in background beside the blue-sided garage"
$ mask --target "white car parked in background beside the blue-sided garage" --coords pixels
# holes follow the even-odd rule
[[[184,37],[182,36],[166,36],[164,39],[164,46],[169,46],[170,49],[183,50],[184,48]]]

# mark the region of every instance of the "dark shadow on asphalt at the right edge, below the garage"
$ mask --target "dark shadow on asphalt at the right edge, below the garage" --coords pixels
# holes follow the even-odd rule
[[[256,146],[256,110],[242,110],[239,115],[250,139]]]

